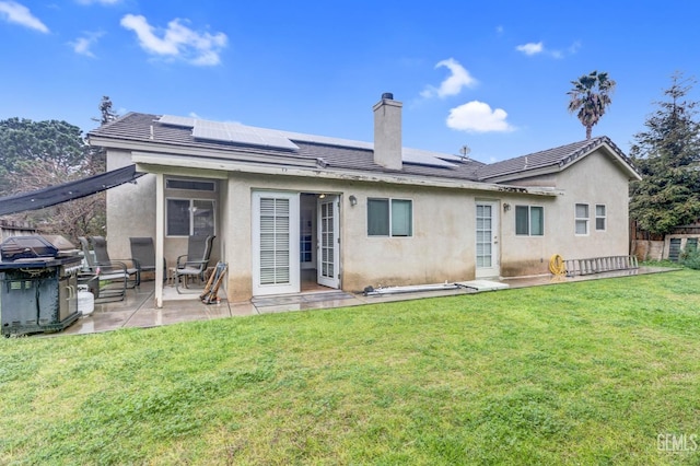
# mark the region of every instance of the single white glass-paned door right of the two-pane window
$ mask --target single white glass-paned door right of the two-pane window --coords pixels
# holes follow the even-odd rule
[[[476,278],[499,277],[499,203],[477,201],[477,270]]]

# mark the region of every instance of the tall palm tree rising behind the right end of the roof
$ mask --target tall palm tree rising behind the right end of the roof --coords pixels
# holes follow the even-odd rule
[[[616,82],[608,79],[608,73],[593,71],[584,74],[578,81],[571,81],[573,89],[567,92],[569,113],[576,113],[581,124],[586,127],[586,139],[591,139],[591,131],[598,120],[605,115],[605,110],[612,102],[610,94],[615,90]],[[596,92],[597,90],[597,92]]]

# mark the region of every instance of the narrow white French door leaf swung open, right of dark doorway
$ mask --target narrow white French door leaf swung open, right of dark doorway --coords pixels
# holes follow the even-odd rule
[[[339,196],[326,196],[318,199],[318,258],[317,281],[324,287],[338,288],[339,242],[338,242],[338,209]]]

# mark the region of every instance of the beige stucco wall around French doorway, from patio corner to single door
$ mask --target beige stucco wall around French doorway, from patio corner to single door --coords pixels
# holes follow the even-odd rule
[[[256,189],[340,195],[340,273],[345,290],[474,277],[475,246],[469,240],[474,237],[469,226],[474,224],[474,206],[464,191],[236,174],[229,180],[228,214],[231,220],[224,247],[229,258],[228,289],[233,300],[247,300],[252,295],[250,205],[252,193]],[[350,206],[350,195],[357,197],[357,206]],[[413,200],[413,236],[369,237],[368,197]]]

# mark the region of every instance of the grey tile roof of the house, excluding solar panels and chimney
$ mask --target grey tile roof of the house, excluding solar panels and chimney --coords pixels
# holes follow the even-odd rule
[[[628,160],[607,137],[599,137],[488,165],[471,159],[462,161],[459,158],[451,154],[405,148],[402,168],[400,171],[394,171],[374,163],[373,144],[369,142],[242,126],[242,128],[259,129],[260,131],[266,131],[271,135],[282,135],[299,149],[290,150],[289,148],[282,147],[246,145],[234,142],[197,139],[192,136],[192,127],[187,126],[190,120],[189,118],[180,118],[178,120],[177,118],[168,117],[171,124],[167,125],[159,123],[159,118],[161,118],[160,115],[130,113],[115,121],[90,131],[88,136],[89,138],[97,137],[102,139],[131,141],[135,143],[159,143],[171,147],[191,148],[191,156],[198,156],[196,150],[215,150],[222,153],[222,156],[226,156],[226,152],[230,152],[232,160],[235,160],[235,154],[240,153],[246,153],[253,156],[255,154],[278,156],[280,158],[280,163],[289,165],[293,165],[294,160],[299,163],[300,159],[311,159],[320,161],[319,166],[330,170],[366,171],[485,183],[493,183],[491,180],[498,177],[517,175],[518,173],[525,174],[526,172],[537,168],[546,168],[549,166],[562,167],[603,143],[609,144],[623,160]],[[179,126],[173,124],[177,121],[180,121]],[[441,163],[431,163],[431,159],[442,162],[443,166],[436,166]],[[516,178],[517,176],[514,177]]]

